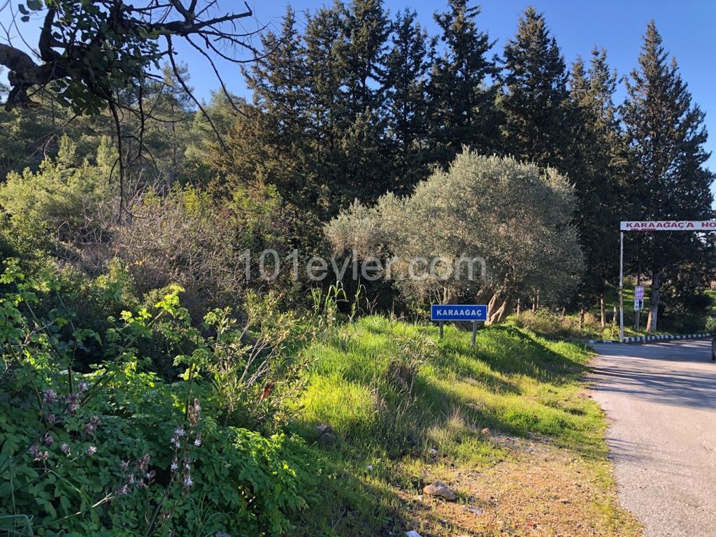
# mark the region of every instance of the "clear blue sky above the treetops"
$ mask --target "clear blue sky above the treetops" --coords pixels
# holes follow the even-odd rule
[[[237,0],[221,0],[226,10],[236,9]],[[299,16],[304,19],[306,10],[315,10],[323,2],[294,0],[290,2]],[[683,79],[688,83],[694,101],[706,112],[706,125],[710,132],[707,148],[716,153],[716,1],[713,0],[485,0],[478,24],[497,39],[495,52],[501,52],[505,41],[516,31],[518,16],[529,4],[543,12],[548,26],[556,37],[567,64],[574,61],[577,54],[589,57],[594,45],[606,48],[609,62],[619,75],[628,74],[637,66],[637,56],[642,44],[642,35],[647,22],[654,19],[657,29],[664,39],[664,47],[676,57]],[[249,0],[256,20],[246,21],[246,29],[255,29],[259,24],[280,24],[286,11],[286,1],[268,0],[256,4]],[[395,12],[405,7],[415,9],[420,22],[430,34],[437,34],[432,20],[434,11],[442,11],[445,4],[441,1],[427,0],[385,0],[385,6]],[[0,12],[0,20],[9,17],[7,10]],[[33,23],[31,23],[33,24]],[[34,23],[37,26],[37,23]],[[21,25],[21,27],[24,25]],[[29,26],[29,25],[28,25]],[[37,30],[27,28],[29,38],[37,35]],[[28,37],[28,36],[26,36]],[[218,82],[211,68],[198,52],[187,48],[181,51],[181,59],[189,65],[190,84],[200,97],[208,97]],[[236,66],[219,64],[229,89],[238,95],[247,95],[241,73]],[[617,102],[624,97],[623,84],[616,95]],[[712,170],[716,170],[716,154],[709,161]],[[715,188],[716,193],[716,188]]]

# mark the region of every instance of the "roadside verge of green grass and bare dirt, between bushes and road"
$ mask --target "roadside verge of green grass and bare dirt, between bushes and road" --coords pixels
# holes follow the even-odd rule
[[[513,326],[470,334],[372,316],[309,352],[296,427],[326,466],[297,534],[639,534],[616,507],[586,347]],[[432,480],[458,495],[422,495]],[[326,528],[328,530],[326,531]]]

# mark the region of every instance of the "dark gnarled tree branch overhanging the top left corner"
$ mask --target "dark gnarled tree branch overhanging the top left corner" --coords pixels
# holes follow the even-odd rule
[[[9,3],[1,5],[5,8]],[[0,65],[9,69],[11,86],[6,110],[36,106],[31,88],[55,81],[62,82],[55,91],[70,105],[77,102],[81,108],[89,100],[86,94],[109,105],[115,89],[136,82],[168,54],[159,46],[160,37],[221,40],[228,47],[256,54],[246,41],[251,33],[236,30],[237,21],[253,16],[246,2],[244,6],[238,12],[212,16],[210,11],[218,7],[216,0],[206,1],[199,11],[198,0],[145,0],[140,6],[122,0],[57,0],[44,12],[37,46],[39,62],[14,47],[9,35],[6,43],[0,43]],[[17,27],[18,14],[13,12],[12,18]],[[219,52],[214,44],[210,49],[223,59],[240,61]],[[72,91],[63,91],[66,87]]]

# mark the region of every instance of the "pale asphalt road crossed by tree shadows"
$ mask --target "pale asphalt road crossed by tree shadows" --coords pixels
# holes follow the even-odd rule
[[[716,364],[710,342],[596,344],[619,501],[646,537],[716,537]]]

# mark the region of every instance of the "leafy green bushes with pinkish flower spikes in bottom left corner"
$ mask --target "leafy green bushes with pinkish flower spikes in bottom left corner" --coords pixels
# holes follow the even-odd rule
[[[180,289],[100,333],[58,311],[37,316],[38,292],[62,296],[57,280],[40,283],[13,263],[0,278],[0,519],[47,536],[291,531],[316,498],[319,465],[297,437],[218,422],[216,357],[186,324]],[[176,359],[183,379],[167,384],[142,372],[135,344],[177,329],[179,342],[195,346]],[[78,374],[74,356],[89,342],[102,355]]]

